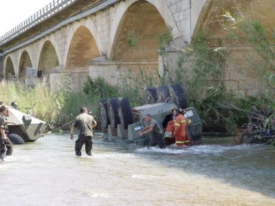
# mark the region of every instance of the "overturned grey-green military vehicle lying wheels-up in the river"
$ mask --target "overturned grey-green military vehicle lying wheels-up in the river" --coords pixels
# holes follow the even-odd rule
[[[168,122],[173,118],[172,109],[177,106],[184,109],[185,116],[192,120],[192,124],[187,127],[190,141],[201,144],[202,122],[194,107],[187,108],[186,96],[181,84],[162,85],[157,89],[151,87],[146,89],[144,96],[145,104],[133,108],[126,98],[100,100],[98,107],[102,132],[146,146],[150,144],[151,133],[144,137],[137,135],[147,125],[144,115],[151,114],[152,118],[165,130]],[[173,141],[166,141],[166,145],[169,145],[167,142]]]

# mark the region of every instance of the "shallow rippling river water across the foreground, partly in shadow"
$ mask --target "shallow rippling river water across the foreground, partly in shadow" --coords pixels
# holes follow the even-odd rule
[[[94,137],[93,157],[77,158],[67,133],[47,135],[0,162],[0,205],[275,205],[274,148],[203,142],[159,150]]]

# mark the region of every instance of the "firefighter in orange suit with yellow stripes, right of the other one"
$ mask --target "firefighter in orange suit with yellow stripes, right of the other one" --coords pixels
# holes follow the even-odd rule
[[[174,136],[176,140],[176,145],[182,147],[184,145],[190,145],[190,140],[187,133],[187,125],[191,124],[192,121],[187,117],[184,117],[177,108],[173,108],[173,115],[175,115],[175,130]]]

